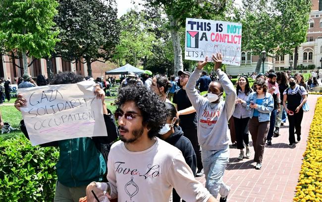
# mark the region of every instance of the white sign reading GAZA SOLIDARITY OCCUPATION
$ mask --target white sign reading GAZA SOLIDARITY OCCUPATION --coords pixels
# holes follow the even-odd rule
[[[31,144],[107,135],[94,89],[94,81],[18,89],[27,100],[21,113]]]

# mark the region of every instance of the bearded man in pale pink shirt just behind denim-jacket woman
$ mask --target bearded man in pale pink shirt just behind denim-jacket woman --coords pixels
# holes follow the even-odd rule
[[[277,75],[275,73],[269,73],[267,85],[268,85],[268,93],[270,93],[273,96],[274,100],[274,109],[270,113],[270,119],[269,119],[269,130],[267,135],[267,145],[271,144],[271,138],[274,135],[274,126],[275,126],[275,120],[276,120],[276,114],[280,112],[280,93],[278,89],[278,84],[276,83]]]

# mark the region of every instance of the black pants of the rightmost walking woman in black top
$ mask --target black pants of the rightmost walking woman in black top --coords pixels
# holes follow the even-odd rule
[[[296,109],[296,108],[295,108]],[[295,109],[288,108],[288,110],[293,111],[294,115],[287,115],[288,122],[290,124],[288,129],[288,140],[290,143],[295,143],[294,128],[296,129],[296,135],[301,135],[301,122],[303,119],[303,109],[301,107],[298,113],[295,113]]]

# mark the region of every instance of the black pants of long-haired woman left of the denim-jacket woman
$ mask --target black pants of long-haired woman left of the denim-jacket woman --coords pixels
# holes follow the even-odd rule
[[[238,119],[234,117],[237,149],[245,148],[243,142],[245,142],[246,145],[249,145],[248,122],[249,117],[243,119]]]

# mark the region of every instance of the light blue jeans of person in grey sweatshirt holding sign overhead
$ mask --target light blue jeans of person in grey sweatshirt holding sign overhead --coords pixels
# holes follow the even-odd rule
[[[225,150],[201,150],[202,162],[206,176],[206,188],[215,198],[226,197],[230,187],[222,181],[226,165],[229,161],[229,147]]]

